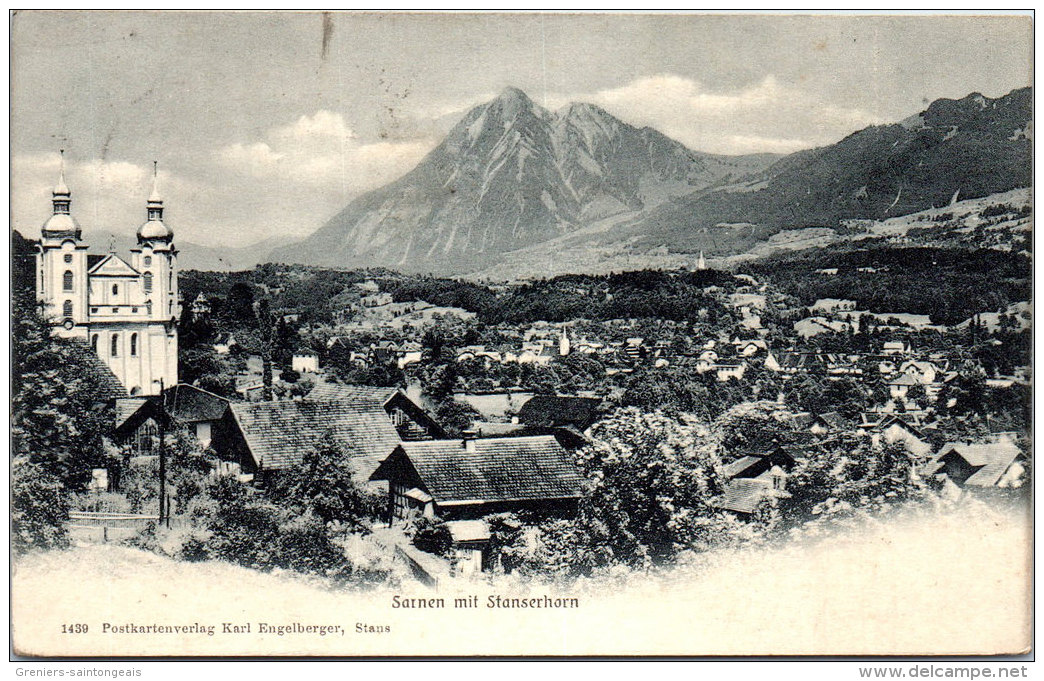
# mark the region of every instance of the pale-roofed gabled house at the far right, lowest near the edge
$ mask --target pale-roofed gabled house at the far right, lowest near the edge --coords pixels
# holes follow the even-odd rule
[[[1017,488],[1025,482],[1026,456],[1014,442],[949,442],[925,466],[928,475],[959,488]]]

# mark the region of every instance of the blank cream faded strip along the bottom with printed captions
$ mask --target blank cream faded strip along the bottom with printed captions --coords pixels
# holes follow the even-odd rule
[[[1016,653],[1030,642],[1030,561],[1028,512],[980,503],[906,510],[567,591],[511,578],[332,591],[286,572],[77,545],[16,562],[14,645],[50,656]],[[545,594],[578,607],[488,607],[491,595]],[[477,607],[455,607],[471,595]],[[396,608],[396,596],[426,607]],[[75,624],[88,632],[62,633]],[[141,632],[151,625],[189,633]]]

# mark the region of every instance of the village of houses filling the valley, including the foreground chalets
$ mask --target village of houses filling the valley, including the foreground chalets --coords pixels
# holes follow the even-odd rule
[[[187,522],[194,511],[177,484],[135,497],[121,480],[128,464],[155,468],[166,456],[159,470],[170,467],[176,433],[193,441],[181,455],[206,461],[208,475],[262,495],[317,445],[332,444],[371,495],[377,545],[414,578],[435,584],[503,571],[505,522],[518,542],[527,525],[590,513],[580,462],[599,424],[627,409],[701,413],[725,429],[761,419],[751,426],[760,436],[718,441],[719,487],[707,501],[730,526],[773,524],[766,518],[796,503],[788,478],[807,477],[838,443],[871,455],[902,451],[902,485],[946,498],[1026,489],[1018,396],[1027,394],[1020,391],[1028,391],[1028,367],[1007,353],[988,375],[973,352],[1013,343],[1028,328],[1025,304],[948,327],[927,315],[859,310],[852,300],[802,307],[751,275],[705,264],[662,276],[695,282],[703,306],[691,319],[487,324],[462,307],[397,300],[401,290],[387,290],[395,278],[364,273],[331,299],[342,306],[323,301],[326,316],[279,304],[262,316],[257,299],[268,297],[263,309],[285,292],[265,284],[251,286],[257,299],[245,306],[235,300],[239,284],[223,282],[232,286],[223,295],[199,290],[180,301],[180,353],[212,373],[186,372],[183,362],[195,384],[179,380],[153,396],[128,396],[113,377],[106,435],[123,465],[93,471],[72,512],[81,523],[75,532],[105,540],[137,532],[134,523],[91,526],[99,509],[155,513],[161,529]],[[701,285],[708,278],[715,283]],[[582,298],[613,297],[597,284],[570,286]],[[239,318],[237,306],[245,310]],[[996,398],[1009,393],[1016,397]],[[1002,402],[1015,408],[997,408]]]

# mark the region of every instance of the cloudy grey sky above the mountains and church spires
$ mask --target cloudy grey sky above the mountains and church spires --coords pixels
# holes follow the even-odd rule
[[[1026,17],[19,11],[11,220],[66,150],[85,231],[133,233],[152,161],[175,242],[300,238],[505,87],[692,149],[790,152],[1031,81]]]

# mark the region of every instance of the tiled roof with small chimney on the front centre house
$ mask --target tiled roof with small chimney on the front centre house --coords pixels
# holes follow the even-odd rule
[[[396,454],[413,466],[440,504],[575,498],[579,471],[551,436],[404,442]],[[389,457],[389,461],[393,457]],[[371,479],[387,479],[385,465]]]

